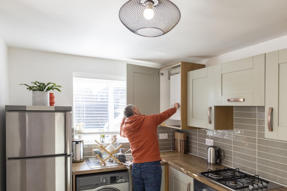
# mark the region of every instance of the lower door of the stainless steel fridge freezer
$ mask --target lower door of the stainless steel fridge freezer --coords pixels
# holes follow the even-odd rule
[[[7,191],[71,191],[71,156],[6,160]]]

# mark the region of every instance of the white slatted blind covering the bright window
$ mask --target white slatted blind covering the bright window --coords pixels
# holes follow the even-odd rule
[[[126,106],[126,83],[118,80],[73,78],[74,124],[85,132],[120,130]]]

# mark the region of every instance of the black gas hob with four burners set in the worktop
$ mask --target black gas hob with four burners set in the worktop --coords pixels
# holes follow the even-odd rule
[[[242,172],[238,168],[208,169],[207,172],[199,174],[228,187],[230,190],[236,191],[266,191],[283,187],[274,182],[259,178],[258,175],[253,176]]]

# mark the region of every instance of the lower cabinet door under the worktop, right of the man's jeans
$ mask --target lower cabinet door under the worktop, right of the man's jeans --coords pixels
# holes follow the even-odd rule
[[[193,178],[168,166],[169,191],[193,191]]]

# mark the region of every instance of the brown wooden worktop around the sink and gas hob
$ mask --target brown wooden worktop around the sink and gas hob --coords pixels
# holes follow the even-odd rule
[[[201,157],[191,155],[191,154],[181,154],[176,151],[163,151],[160,152],[160,156],[162,158],[161,165],[169,165],[188,176],[216,189],[216,190],[226,190],[230,191],[230,189],[225,188],[224,186],[213,182],[212,180],[199,175],[199,172],[208,171],[208,169],[216,170],[216,168],[223,169],[224,165],[209,165],[206,162],[206,159]],[[115,171],[127,169],[125,165],[111,166],[111,167],[100,167],[100,168],[90,168],[86,161],[82,163],[73,163],[72,174],[88,174],[88,173],[96,173],[96,172],[104,172],[104,171]],[[274,191],[287,191],[287,187],[274,189]]]

